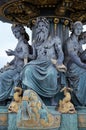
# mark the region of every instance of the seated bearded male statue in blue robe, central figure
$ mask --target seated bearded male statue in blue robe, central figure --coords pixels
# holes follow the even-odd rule
[[[38,18],[35,25],[35,42],[33,46],[33,59],[22,71],[22,84],[26,89],[33,89],[43,97],[53,98],[58,92],[58,78],[60,71],[56,66],[62,66],[64,54],[61,40],[58,36],[49,36],[49,21],[46,18]],[[52,63],[52,59],[56,61]],[[63,66],[62,66],[63,67]],[[66,68],[66,67],[64,67]]]

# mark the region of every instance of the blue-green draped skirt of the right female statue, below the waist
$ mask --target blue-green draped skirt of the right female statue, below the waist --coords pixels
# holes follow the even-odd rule
[[[67,72],[67,77],[79,102],[86,105],[86,70],[73,63]]]

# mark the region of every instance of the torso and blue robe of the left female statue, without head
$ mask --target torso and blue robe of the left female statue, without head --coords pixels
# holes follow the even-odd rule
[[[0,73],[0,101],[13,96],[13,87],[17,86],[20,80],[20,72],[24,66],[24,57],[28,56],[28,44],[25,39],[18,42],[15,48],[16,54],[7,70]]]

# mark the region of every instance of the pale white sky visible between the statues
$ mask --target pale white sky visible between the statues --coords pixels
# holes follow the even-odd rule
[[[14,50],[17,45],[17,40],[12,34],[11,26],[11,24],[0,21],[0,68],[13,59],[12,56],[6,55],[5,50]],[[31,30],[27,27],[25,27],[25,29],[30,36],[29,43],[31,44]],[[86,31],[86,25],[83,31]]]

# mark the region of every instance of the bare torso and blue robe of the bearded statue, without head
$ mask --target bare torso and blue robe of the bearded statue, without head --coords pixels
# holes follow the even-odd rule
[[[57,55],[57,48],[60,46],[58,41],[59,39],[57,42],[52,39],[46,43],[35,44],[37,57],[24,67],[21,74],[23,86],[33,89],[44,97],[53,97],[58,91],[59,72],[51,63],[52,58],[63,61],[61,50],[59,58]]]

